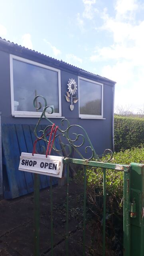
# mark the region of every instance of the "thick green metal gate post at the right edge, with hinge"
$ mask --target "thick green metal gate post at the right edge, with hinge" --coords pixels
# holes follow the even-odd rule
[[[144,165],[130,164],[130,256],[144,256]]]

